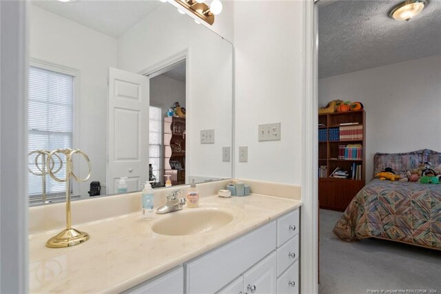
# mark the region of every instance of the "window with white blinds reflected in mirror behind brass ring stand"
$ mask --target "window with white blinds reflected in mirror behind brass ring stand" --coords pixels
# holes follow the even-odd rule
[[[31,66],[28,87],[28,152],[72,148],[74,77]],[[28,157],[28,166],[38,172],[34,160]],[[57,177],[65,177],[64,166]],[[30,197],[40,197],[41,177],[28,173],[28,189]],[[46,177],[47,195],[64,192],[65,183]]]

